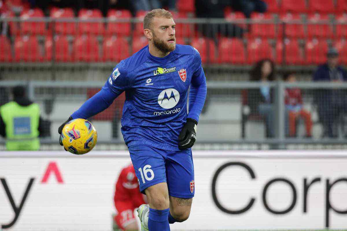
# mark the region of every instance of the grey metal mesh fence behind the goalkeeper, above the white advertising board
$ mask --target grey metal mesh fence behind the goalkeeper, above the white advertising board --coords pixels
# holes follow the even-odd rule
[[[1,96],[2,103],[12,100],[8,96],[18,84],[23,82],[0,82],[8,92]],[[58,127],[103,85],[26,83],[29,98],[40,105],[42,149],[59,149]],[[208,92],[198,126],[198,149],[347,148],[346,83],[209,81]],[[108,109],[88,118],[98,131],[101,150],[125,149],[120,133],[124,100],[123,93]]]

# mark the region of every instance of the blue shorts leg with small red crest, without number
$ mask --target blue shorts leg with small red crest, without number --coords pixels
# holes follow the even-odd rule
[[[195,180],[191,149],[171,152],[166,158],[165,166],[169,196],[194,197]]]

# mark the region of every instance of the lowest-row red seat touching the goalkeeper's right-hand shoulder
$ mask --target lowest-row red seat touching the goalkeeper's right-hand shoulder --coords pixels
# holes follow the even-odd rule
[[[203,63],[215,63],[215,45],[208,38],[194,38],[191,44],[200,53]]]

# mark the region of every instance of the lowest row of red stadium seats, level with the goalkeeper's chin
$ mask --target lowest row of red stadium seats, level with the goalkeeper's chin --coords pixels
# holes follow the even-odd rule
[[[185,40],[177,39],[178,44]],[[46,37],[43,45],[35,36],[19,36],[11,43],[7,37],[0,37],[0,62],[119,62],[140,50],[147,44],[145,37],[134,37],[129,46],[124,37],[105,37],[100,45],[95,36],[78,36],[72,41],[67,36]],[[278,40],[273,47],[268,39],[255,38],[244,43],[241,39],[221,38],[218,46],[208,38],[194,38],[191,45],[199,50],[204,63],[252,64],[260,59],[270,58],[277,63],[319,64],[325,62],[329,47],[325,39],[309,39],[306,42],[297,39]],[[347,64],[347,43],[344,39],[333,44],[341,53],[341,62]],[[54,54],[53,54],[54,52]],[[14,53],[14,56],[12,56]],[[283,60],[284,59],[284,60]]]

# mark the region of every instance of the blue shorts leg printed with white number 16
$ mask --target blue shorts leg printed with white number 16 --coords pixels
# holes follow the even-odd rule
[[[165,160],[161,150],[147,145],[133,145],[129,147],[129,152],[142,193],[152,185],[166,182]]]

